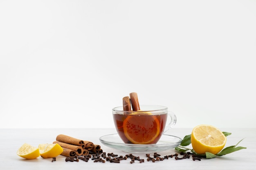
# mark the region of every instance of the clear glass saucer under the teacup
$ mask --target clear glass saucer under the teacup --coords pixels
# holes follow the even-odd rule
[[[99,138],[100,142],[110,148],[127,153],[154,153],[168,150],[180,145],[180,137],[165,135],[159,139],[157,144],[125,144],[118,134],[104,135]]]

